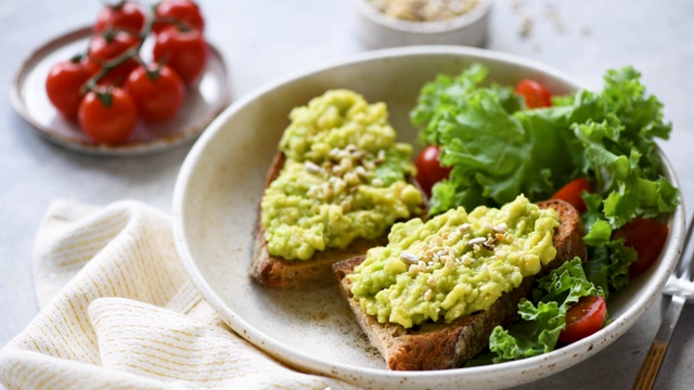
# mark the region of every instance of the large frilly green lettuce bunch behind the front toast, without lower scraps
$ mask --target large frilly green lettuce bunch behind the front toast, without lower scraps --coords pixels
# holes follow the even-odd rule
[[[600,93],[555,98],[543,109],[524,109],[510,88],[481,87],[487,73],[476,64],[438,76],[411,113],[420,141],[440,144],[442,165],[452,167],[430,213],[500,206],[520,193],[541,200],[580,176],[603,197],[613,229],[674,209],[679,193],[660,173],[654,141],[671,125],[633,68],[608,70]]]

